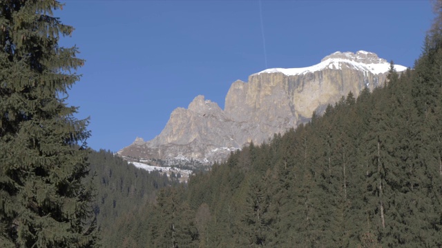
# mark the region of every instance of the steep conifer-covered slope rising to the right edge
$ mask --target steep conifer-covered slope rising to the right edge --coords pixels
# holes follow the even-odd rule
[[[147,247],[441,247],[437,24],[413,70],[392,69],[383,87],[350,92],[187,187],[162,189],[126,238]]]

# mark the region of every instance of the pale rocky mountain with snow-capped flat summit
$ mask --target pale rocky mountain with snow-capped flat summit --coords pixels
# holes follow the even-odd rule
[[[372,52],[335,52],[307,68],[273,68],[232,83],[224,110],[197,96],[177,108],[164,130],[151,141],[136,138],[118,153],[135,158],[193,158],[208,163],[231,150],[267,141],[275,133],[309,121],[316,111],[350,91],[355,96],[385,82],[390,63]],[[398,72],[406,70],[395,65]]]

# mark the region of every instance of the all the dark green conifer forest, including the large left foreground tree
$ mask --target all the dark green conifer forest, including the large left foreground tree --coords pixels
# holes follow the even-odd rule
[[[442,247],[442,2],[414,68],[187,183],[86,145],[52,0],[0,1],[0,247]]]

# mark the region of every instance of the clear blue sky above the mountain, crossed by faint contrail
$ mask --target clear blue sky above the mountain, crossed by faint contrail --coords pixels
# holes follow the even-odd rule
[[[91,118],[88,145],[114,152],[160,134],[198,94],[223,108],[233,81],[266,69],[265,54],[267,68],[358,50],[413,67],[433,17],[425,0],[64,2],[55,15],[75,32],[60,44],[86,59],[68,103]]]

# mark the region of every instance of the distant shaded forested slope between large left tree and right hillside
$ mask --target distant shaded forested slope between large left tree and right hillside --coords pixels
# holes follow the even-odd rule
[[[97,189],[93,206],[103,247],[143,247],[142,243],[129,242],[128,232],[133,223],[139,224],[140,209],[155,203],[157,190],[177,185],[177,180],[138,169],[103,149],[92,151],[88,161]]]

